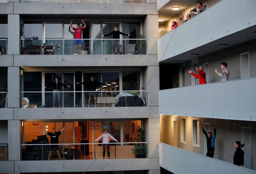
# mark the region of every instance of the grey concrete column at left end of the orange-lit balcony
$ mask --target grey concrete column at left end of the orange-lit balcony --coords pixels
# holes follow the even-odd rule
[[[20,120],[8,120],[8,160],[20,161]]]

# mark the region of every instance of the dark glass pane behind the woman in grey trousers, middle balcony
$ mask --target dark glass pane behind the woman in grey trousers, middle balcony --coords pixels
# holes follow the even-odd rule
[[[62,74],[61,73],[45,73],[44,74],[44,84],[45,86],[50,85],[51,83],[55,82],[55,77],[58,77],[61,81]],[[53,87],[46,88],[45,91],[53,91]],[[62,86],[60,87],[60,91],[62,91]],[[53,106],[53,94],[52,93],[44,93],[45,96],[45,107],[52,107]],[[60,101],[62,101],[62,94],[60,93]],[[55,107],[62,107],[58,104],[58,98],[54,103]]]

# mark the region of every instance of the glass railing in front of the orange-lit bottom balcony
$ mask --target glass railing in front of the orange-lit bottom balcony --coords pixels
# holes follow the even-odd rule
[[[103,157],[103,143],[75,143],[75,144],[22,144],[22,161],[48,160],[101,160]],[[147,158],[148,142],[109,143],[110,159]],[[59,148],[60,156],[56,151]],[[105,159],[108,159],[106,152]]]

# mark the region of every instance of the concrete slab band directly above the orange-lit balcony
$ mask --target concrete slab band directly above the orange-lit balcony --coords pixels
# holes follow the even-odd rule
[[[16,120],[159,118],[158,107],[14,108]]]

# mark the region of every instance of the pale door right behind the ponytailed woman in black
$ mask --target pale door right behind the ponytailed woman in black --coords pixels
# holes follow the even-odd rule
[[[244,166],[245,168],[251,169],[251,128],[242,127],[242,141],[244,147]]]

